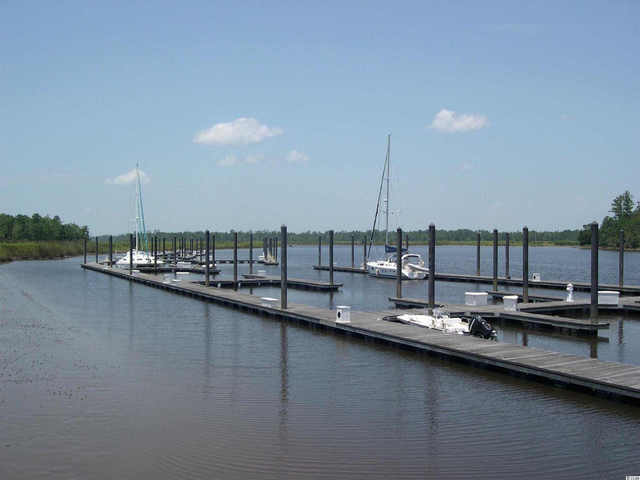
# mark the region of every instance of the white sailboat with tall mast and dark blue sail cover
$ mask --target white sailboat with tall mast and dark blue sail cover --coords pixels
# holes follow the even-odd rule
[[[386,177],[385,177],[386,172]],[[382,211],[385,214],[385,254],[390,253],[387,259],[381,260],[369,260],[367,259],[367,273],[371,276],[385,276],[388,278],[397,278],[398,268],[398,256],[400,257],[400,268],[402,278],[408,278],[410,280],[422,280],[425,278],[429,269],[424,266],[424,260],[417,253],[410,253],[407,248],[401,248],[400,252],[397,252],[397,246],[389,244],[389,179],[391,177],[391,135],[387,139],[387,157],[385,158],[385,170],[382,174],[382,183],[380,184],[380,195],[378,195],[378,209],[376,210],[376,218],[380,210],[380,198],[382,196],[382,188],[387,181],[387,198],[383,200],[385,209]],[[374,221],[375,227],[375,221]],[[371,233],[373,237],[373,232]],[[371,252],[371,245],[369,246]],[[362,268],[365,268],[363,265]]]

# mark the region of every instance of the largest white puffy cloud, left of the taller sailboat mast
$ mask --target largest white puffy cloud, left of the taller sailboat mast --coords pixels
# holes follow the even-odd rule
[[[284,132],[278,127],[269,128],[260,125],[255,118],[238,118],[228,124],[215,124],[211,128],[198,132],[193,138],[195,143],[209,145],[241,145],[257,143],[265,138],[280,135]]]

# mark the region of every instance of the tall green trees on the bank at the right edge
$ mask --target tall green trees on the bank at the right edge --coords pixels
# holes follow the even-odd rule
[[[598,246],[615,248],[620,244],[620,230],[624,230],[625,248],[640,248],[640,202],[627,190],[611,202],[611,210],[602,219],[598,232]],[[591,244],[591,224],[583,225],[578,236],[580,245]]]

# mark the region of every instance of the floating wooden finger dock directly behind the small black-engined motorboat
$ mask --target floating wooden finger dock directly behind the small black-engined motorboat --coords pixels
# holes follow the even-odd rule
[[[423,298],[389,298],[389,301],[400,308],[426,308],[429,301]],[[546,328],[556,328],[561,332],[575,333],[598,333],[598,330],[609,328],[609,323],[598,322],[591,323],[589,320],[556,317],[550,315],[542,315],[538,313],[515,310],[504,310],[502,305],[480,305],[474,307],[472,305],[460,305],[454,303],[444,303],[437,301],[436,305],[446,305],[452,316],[470,316],[477,314],[484,317],[489,323],[493,319],[508,321],[509,323],[519,323],[528,326],[543,326]],[[547,303],[519,303],[521,305],[547,305]]]

